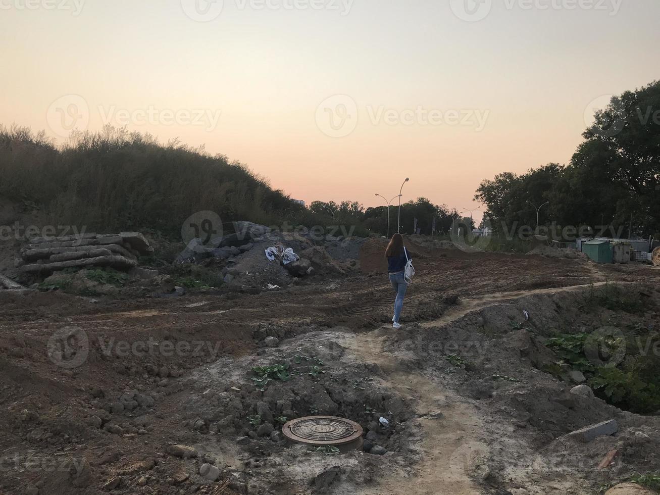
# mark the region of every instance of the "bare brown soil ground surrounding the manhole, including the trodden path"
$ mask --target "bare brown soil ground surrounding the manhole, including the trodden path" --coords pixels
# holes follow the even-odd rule
[[[387,326],[393,294],[380,240],[362,246],[360,272],[261,294],[91,300],[0,291],[0,493],[586,494],[602,480],[591,476],[592,465],[552,465],[566,450],[557,446],[570,428],[612,416],[628,428],[618,442],[646,456],[638,465],[658,461],[644,440],[660,440],[657,418],[602,401],[584,406],[587,413],[575,404],[556,413],[552,397],[566,384],[530,364],[516,340],[525,336],[487,309],[504,304],[520,315],[521,300],[545,298],[521,308],[566,325],[548,315],[556,316],[548,301],[559,297],[568,307],[575,296],[554,290],[639,284],[653,277],[649,267],[411,248],[417,275],[398,334]],[[471,356],[482,375],[446,372],[448,352],[419,345],[489,345],[495,334],[496,358]],[[279,347],[266,347],[266,337]],[[296,355],[316,357],[325,373],[310,375],[314,363],[295,363]],[[253,366],[283,362],[292,364],[291,381],[263,391],[251,383]],[[487,378],[512,368],[527,386],[499,384],[494,394]],[[524,413],[515,401],[525,403]],[[387,454],[324,455],[255,433],[310,414],[356,420]],[[170,455],[170,444],[193,446],[197,455]],[[605,455],[610,446],[601,444],[588,455]],[[220,469],[218,480],[199,475],[203,463]]]

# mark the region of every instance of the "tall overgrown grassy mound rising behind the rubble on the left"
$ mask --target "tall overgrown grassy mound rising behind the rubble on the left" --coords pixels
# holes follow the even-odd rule
[[[0,195],[33,201],[50,224],[88,232],[154,230],[179,238],[183,221],[198,211],[267,226],[341,223],[294,203],[226,156],[176,141],[160,145],[150,135],[110,126],[75,135],[60,149],[43,134],[0,127]],[[354,235],[369,234],[354,224]]]

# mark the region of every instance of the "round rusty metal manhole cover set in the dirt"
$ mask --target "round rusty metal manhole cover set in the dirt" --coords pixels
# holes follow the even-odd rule
[[[308,416],[289,421],[282,433],[290,442],[352,450],[362,444],[362,426],[334,416]]]

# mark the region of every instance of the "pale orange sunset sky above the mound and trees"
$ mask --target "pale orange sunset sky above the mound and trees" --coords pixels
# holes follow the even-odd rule
[[[657,0],[0,0],[0,123],[206,145],[308,203],[566,163],[660,75]]]

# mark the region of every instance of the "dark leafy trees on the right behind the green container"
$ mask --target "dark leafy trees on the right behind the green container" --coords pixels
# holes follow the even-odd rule
[[[475,199],[502,232],[516,225],[587,226],[593,235],[660,231],[660,81],[614,96],[583,133],[568,165],[504,172],[484,180]]]

